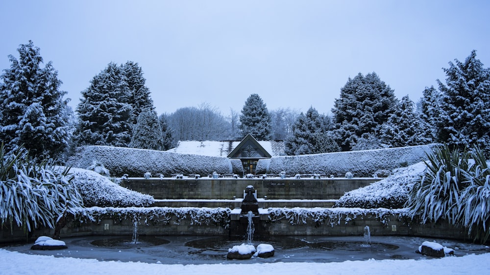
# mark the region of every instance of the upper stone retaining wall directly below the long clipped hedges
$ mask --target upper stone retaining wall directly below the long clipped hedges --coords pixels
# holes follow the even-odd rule
[[[345,192],[364,187],[380,179],[143,179],[123,180],[121,186],[155,199],[233,199],[243,198],[247,185],[253,185],[257,197],[272,200],[331,200]]]

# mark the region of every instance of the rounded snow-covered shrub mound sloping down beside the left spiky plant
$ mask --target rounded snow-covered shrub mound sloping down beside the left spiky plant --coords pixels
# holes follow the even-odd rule
[[[94,171],[72,168],[70,173],[85,207],[149,206],[154,202],[152,196],[128,190]]]

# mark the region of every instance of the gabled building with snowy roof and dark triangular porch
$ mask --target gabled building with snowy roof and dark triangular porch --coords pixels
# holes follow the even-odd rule
[[[250,134],[242,141],[179,141],[177,147],[168,152],[238,159],[242,161],[245,174],[255,174],[257,161],[261,159],[286,155],[283,140],[257,141]]]

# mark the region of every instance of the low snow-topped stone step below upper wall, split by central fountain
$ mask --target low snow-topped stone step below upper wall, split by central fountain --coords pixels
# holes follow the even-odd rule
[[[158,207],[223,207],[240,208],[243,199],[235,200],[155,200]],[[260,208],[270,207],[332,207],[337,200],[265,200],[257,199]]]

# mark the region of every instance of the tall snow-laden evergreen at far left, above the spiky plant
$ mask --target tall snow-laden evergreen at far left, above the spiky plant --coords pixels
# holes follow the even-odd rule
[[[60,91],[58,72],[43,58],[32,41],[9,55],[10,68],[0,76],[0,139],[7,150],[22,144],[38,158],[57,158],[67,148],[71,129],[64,110],[69,99]]]

